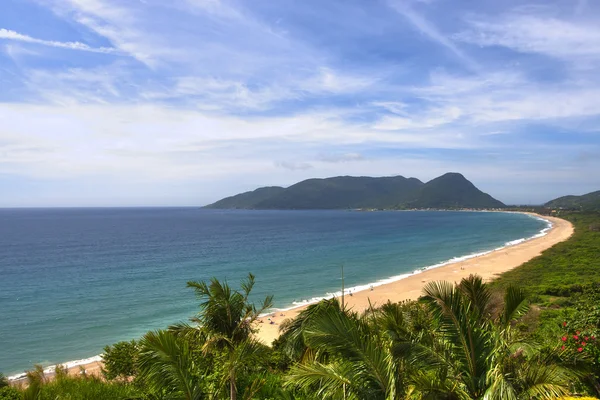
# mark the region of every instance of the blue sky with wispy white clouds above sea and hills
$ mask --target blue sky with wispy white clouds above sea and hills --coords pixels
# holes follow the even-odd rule
[[[597,0],[0,0],[0,207],[600,189]]]

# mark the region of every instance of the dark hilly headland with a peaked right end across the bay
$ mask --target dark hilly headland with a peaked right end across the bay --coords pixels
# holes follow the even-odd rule
[[[502,202],[458,173],[447,173],[427,183],[403,176],[307,179],[288,188],[259,188],[206,206],[266,210],[501,207]]]

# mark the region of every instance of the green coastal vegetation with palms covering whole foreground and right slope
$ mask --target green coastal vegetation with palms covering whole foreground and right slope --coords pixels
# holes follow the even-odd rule
[[[0,399],[598,396],[600,214],[561,216],[575,226],[570,239],[491,283],[431,282],[418,301],[362,314],[322,301],[283,324],[272,347],[253,337],[272,299],[249,301],[252,275],[237,290],[189,282],[198,315],[108,346],[104,379],[59,369],[48,380],[38,369],[26,390],[0,388]]]

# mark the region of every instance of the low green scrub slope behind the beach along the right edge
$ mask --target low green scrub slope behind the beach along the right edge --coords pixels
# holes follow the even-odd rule
[[[499,289],[520,283],[535,303],[535,313],[526,316],[527,325],[521,326],[522,331],[540,343],[543,351],[564,345],[586,358],[591,374],[574,388],[600,394],[597,346],[586,342],[586,346],[574,347],[572,339],[578,336],[576,332],[595,337],[600,329],[600,232],[589,229],[600,223],[600,214],[571,212],[561,216],[573,223],[574,235],[503,274],[492,286]],[[564,337],[568,340],[562,343]]]

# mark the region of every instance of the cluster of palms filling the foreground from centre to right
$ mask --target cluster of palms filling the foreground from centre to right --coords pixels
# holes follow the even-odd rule
[[[320,355],[296,364],[287,385],[322,398],[550,399],[579,376],[542,354],[513,324],[528,309],[508,288],[502,310],[481,278],[432,282],[421,303],[391,304],[362,317],[334,307],[296,324]],[[316,310],[316,309],[315,309]],[[294,336],[291,336],[292,338]]]

